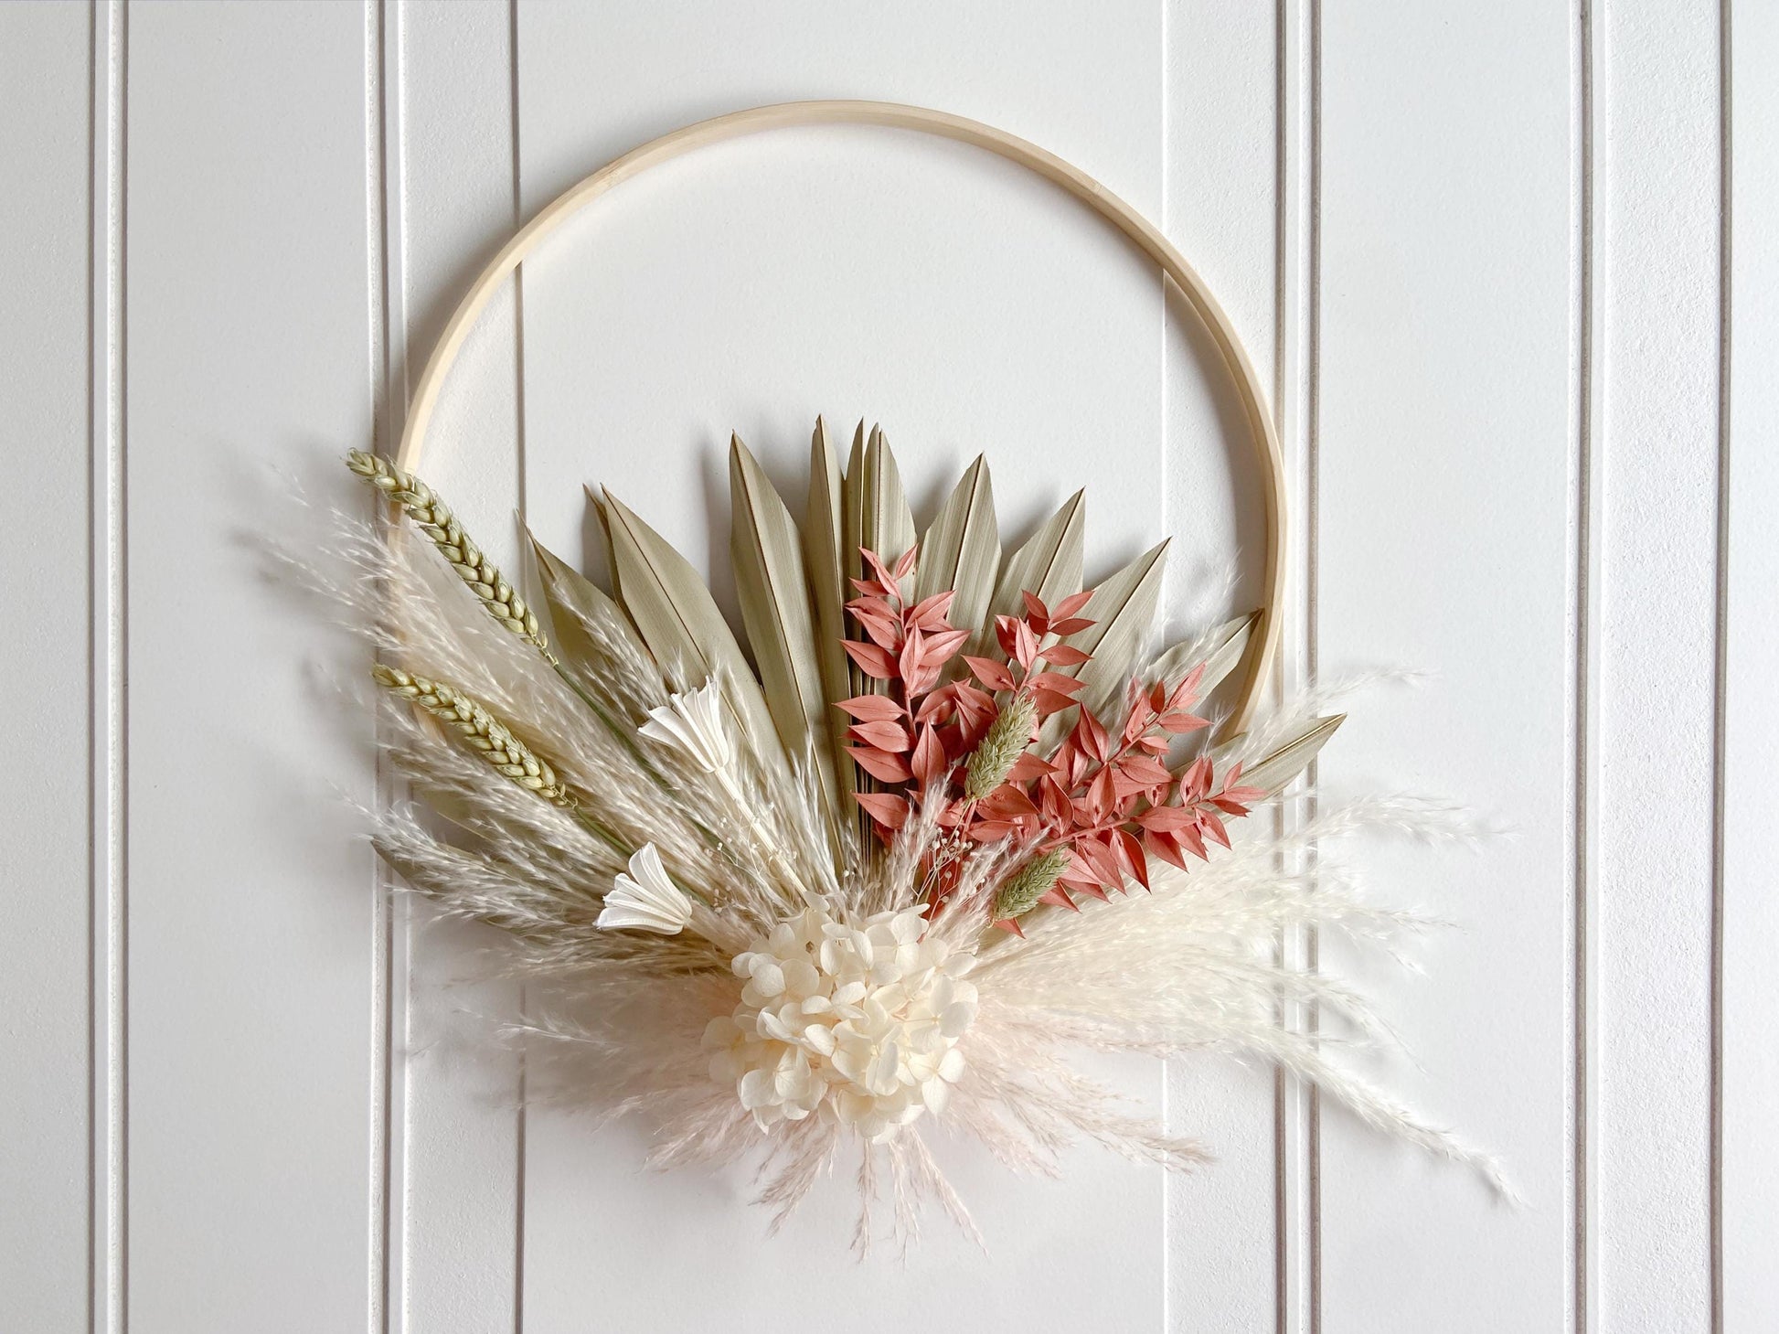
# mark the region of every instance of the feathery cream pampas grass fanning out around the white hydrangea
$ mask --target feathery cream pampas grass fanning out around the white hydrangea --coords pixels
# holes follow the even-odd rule
[[[596,653],[557,671],[535,647],[541,631],[519,635],[491,617],[429,544],[384,541],[352,516],[336,516],[334,526],[334,539],[290,562],[290,573],[374,644],[393,640],[404,669],[480,701],[617,843],[384,699],[386,751],[443,825],[397,804],[370,815],[372,838],[443,914],[505,932],[507,968],[537,984],[535,1017],[511,1028],[530,1053],[532,1096],[585,1112],[594,1124],[648,1117],[656,1167],[754,1161],[774,1227],[818,1179],[854,1163],[856,1245],[872,1240],[879,1199],[904,1245],[925,1204],[973,1234],[922,1126],[875,1147],[822,1115],[761,1137],[733,1085],[712,1078],[701,1046],[708,1021],[737,1007],[742,984],[729,960],[804,898],[850,923],[922,900],[922,864],[941,832],[930,815],[916,813],[886,848],[863,845],[850,820],[836,832],[822,815],[813,754],[793,756],[786,781],[785,767],[761,761],[731,722],[722,722],[731,754],[720,772],[640,735],[680,678],[640,655],[628,628],[610,619],[621,615],[616,608],[560,612],[576,615]],[[1336,683],[1263,713],[1219,751],[1220,768],[1251,765],[1299,736],[1332,699],[1389,678]],[[1208,736],[1192,743],[1210,745]],[[1375,905],[1338,843],[1384,834],[1464,845],[1487,831],[1437,804],[1359,797],[1324,802],[1286,832],[1270,832],[1270,811],[1293,800],[1270,799],[1233,822],[1235,847],[1213,850],[1190,873],[1155,866],[1153,893],[1085,900],[1080,912],[1037,909],[1021,921],[1023,939],[984,934],[984,921],[1032,848],[977,848],[929,925],[952,948],[978,955],[971,980],[980,1012],[959,1041],[968,1067],[945,1122],[1016,1170],[1053,1172],[1076,1140],[1190,1170],[1206,1161],[1204,1145],[1163,1133],[1149,1110],[1082,1076],[1073,1058],[1083,1049],[1162,1058],[1210,1051],[1290,1069],[1361,1121],[1462,1161],[1507,1193],[1487,1154],[1354,1074],[1359,1051],[1393,1042],[1364,998],[1336,976],[1286,969],[1274,955],[1283,930],[1315,927],[1407,960],[1414,937],[1436,923]],[[600,930],[614,877],[649,843],[669,875],[704,902],[674,936]],[[1277,1016],[1292,1003],[1315,1005],[1324,1028],[1283,1028]]]

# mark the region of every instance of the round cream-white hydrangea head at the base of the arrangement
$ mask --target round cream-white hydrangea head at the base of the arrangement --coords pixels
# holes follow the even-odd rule
[[[820,907],[735,957],[742,1003],[710,1021],[710,1074],[761,1129],[822,1113],[866,1140],[945,1108],[977,1016],[975,953],[927,936],[923,909],[852,927]]]

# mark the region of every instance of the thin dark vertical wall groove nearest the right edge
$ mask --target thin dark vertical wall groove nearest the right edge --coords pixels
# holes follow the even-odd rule
[[[1724,1330],[1724,758],[1729,719],[1731,5],[1719,0],[1717,599],[1711,710],[1711,1330]]]

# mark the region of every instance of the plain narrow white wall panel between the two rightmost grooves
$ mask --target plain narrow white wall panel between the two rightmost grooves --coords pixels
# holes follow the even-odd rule
[[[1599,1320],[1711,1329],[1715,5],[1599,12]]]

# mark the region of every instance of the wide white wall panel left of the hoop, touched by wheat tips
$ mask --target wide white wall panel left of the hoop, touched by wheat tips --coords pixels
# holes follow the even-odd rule
[[[363,656],[240,534],[370,436],[363,11],[135,5],[126,59],[128,1325],[350,1329],[370,758],[311,667]]]

